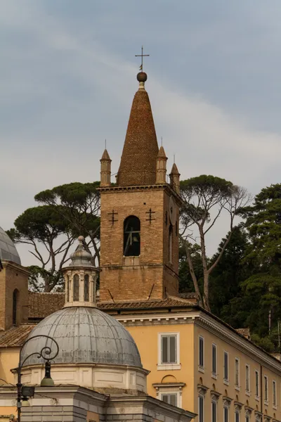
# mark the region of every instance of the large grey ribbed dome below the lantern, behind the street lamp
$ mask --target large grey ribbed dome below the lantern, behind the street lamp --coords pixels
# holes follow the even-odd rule
[[[29,335],[49,335],[58,342],[58,356],[53,364],[113,364],[142,368],[141,357],[131,334],[115,318],[96,307],[67,307],[47,316]],[[48,338],[30,340],[22,349],[22,361],[34,351],[56,347]],[[44,363],[34,354],[25,366]]]

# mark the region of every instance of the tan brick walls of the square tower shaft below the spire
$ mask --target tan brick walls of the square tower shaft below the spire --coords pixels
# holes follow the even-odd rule
[[[169,189],[118,188],[101,191],[100,300],[159,299],[178,294],[178,236],[173,231],[169,262]],[[152,210],[152,221],[149,211]],[[112,210],[115,214],[112,224]],[[178,219],[178,209],[176,210]],[[124,219],[141,220],[141,255],[124,257]],[[111,295],[110,295],[111,294]]]

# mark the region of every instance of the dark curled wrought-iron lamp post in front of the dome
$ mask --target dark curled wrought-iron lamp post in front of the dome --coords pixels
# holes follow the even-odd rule
[[[33,352],[31,354],[29,354],[27,357],[25,357],[25,359],[23,360],[23,362],[21,362],[21,354],[22,354],[22,349],[23,347],[30,342],[30,340],[33,340],[34,338],[39,338],[39,337],[45,337],[48,338],[49,340],[51,340],[51,342],[53,342],[55,344],[55,352],[53,352],[53,350],[51,349],[51,347],[49,346],[44,346],[40,352]],[[18,368],[17,373],[18,373],[18,383],[17,383],[17,388],[18,388],[18,399],[17,399],[17,409],[18,409],[18,422],[20,422],[20,416],[21,416],[21,408],[22,408],[22,401],[23,402],[27,402],[27,397],[32,397],[34,395],[34,387],[29,387],[29,386],[22,386],[22,366],[25,364],[25,362],[27,361],[27,359],[29,359],[31,356],[35,355],[37,356],[38,359],[40,359],[40,357],[42,359],[44,359],[46,361],[45,363],[45,376],[41,381],[41,386],[53,386],[53,380],[51,378],[51,360],[55,359],[56,356],[58,356],[58,351],[59,351],[59,347],[58,347],[58,343],[55,341],[55,339],[51,338],[49,335],[44,335],[44,334],[39,334],[39,335],[34,335],[33,337],[27,338],[27,340],[25,341],[25,343],[23,343],[22,347],[20,347],[20,361],[18,364]]]

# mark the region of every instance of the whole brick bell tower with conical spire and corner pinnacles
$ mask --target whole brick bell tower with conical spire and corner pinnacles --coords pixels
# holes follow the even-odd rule
[[[100,301],[162,300],[178,295],[178,169],[166,181],[145,72],[137,75],[117,184],[111,160],[100,160]]]

